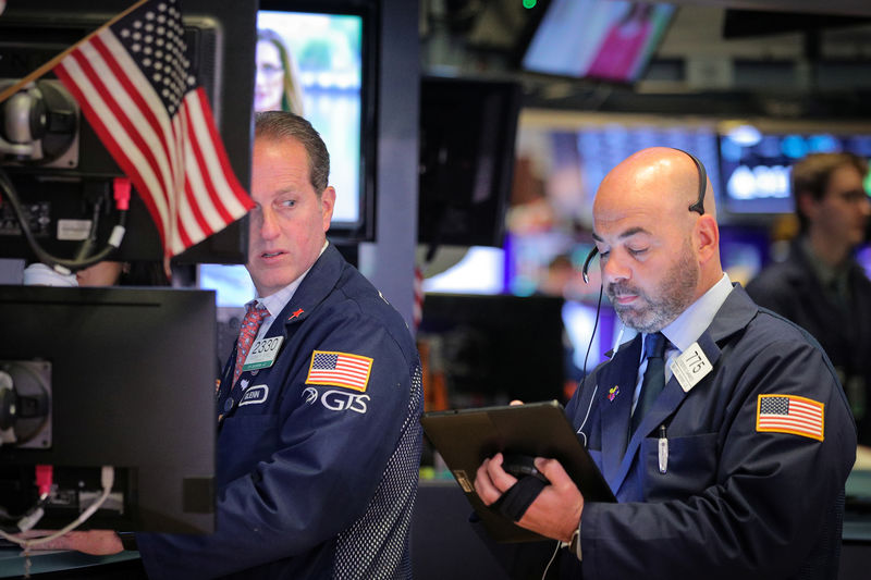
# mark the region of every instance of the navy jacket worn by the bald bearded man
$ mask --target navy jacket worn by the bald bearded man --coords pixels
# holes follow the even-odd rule
[[[836,578],[856,427],[815,341],[734,287],[698,341],[711,372],[688,392],[672,377],[628,439],[640,343],[593,370],[566,406],[618,503],[584,506],[582,562],[560,550],[548,578]],[[764,394],[822,403],[823,440],[758,431]],[[502,552],[515,577],[541,578],[553,546]]]

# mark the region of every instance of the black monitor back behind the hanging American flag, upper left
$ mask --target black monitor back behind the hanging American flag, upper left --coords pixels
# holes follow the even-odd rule
[[[25,77],[132,3],[118,0],[9,2],[0,17],[0,86]],[[229,163],[242,187],[247,189],[257,3],[180,0],[179,4],[189,73],[209,98]],[[118,221],[111,184],[122,172],[53,73],[37,81],[37,88],[45,97],[50,119],[50,128],[42,139],[46,155],[32,160],[0,152],[0,165],[10,174],[40,246],[58,258],[74,259],[83,232],[86,236],[93,221],[99,224],[98,244],[109,239]],[[0,113],[9,102],[0,103]],[[3,131],[0,136],[12,140]],[[243,219],[192,246],[175,260],[243,263],[247,242]],[[0,257],[28,260],[36,257],[22,235],[10,203],[0,205]],[[114,259],[163,259],[157,226],[136,194],[132,196],[126,234]]]

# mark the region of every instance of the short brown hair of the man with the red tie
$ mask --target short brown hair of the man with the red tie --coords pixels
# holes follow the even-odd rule
[[[254,118],[254,138],[283,141],[296,139],[308,156],[308,178],[320,196],[330,182],[330,152],[311,123],[286,111],[262,111]]]

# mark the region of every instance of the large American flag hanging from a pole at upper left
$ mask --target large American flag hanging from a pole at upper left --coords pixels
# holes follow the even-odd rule
[[[228,162],[189,65],[177,0],[144,0],[73,47],[54,67],[139,192],[165,256],[254,207]]]

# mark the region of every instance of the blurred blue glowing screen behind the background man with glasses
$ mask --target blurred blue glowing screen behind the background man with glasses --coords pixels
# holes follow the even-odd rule
[[[719,138],[720,198],[726,217],[792,213],[792,166],[808,153],[871,157],[871,133],[762,132],[743,125]]]

